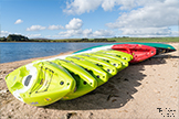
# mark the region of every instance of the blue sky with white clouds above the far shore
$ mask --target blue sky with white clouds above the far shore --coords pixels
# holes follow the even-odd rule
[[[179,35],[179,0],[0,0],[1,36]]]

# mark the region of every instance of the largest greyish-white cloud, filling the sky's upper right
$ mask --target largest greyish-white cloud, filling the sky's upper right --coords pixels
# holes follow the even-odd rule
[[[172,1],[172,2],[171,2]],[[123,13],[115,23],[106,25],[113,29],[120,28],[160,28],[177,25],[179,1],[166,0]]]

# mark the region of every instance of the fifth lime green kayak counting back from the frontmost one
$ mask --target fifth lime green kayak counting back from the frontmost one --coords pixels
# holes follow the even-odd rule
[[[115,60],[115,58],[112,58],[112,57],[107,57],[107,56],[105,56],[105,55],[102,54],[102,53],[87,53],[86,55],[90,55],[90,56],[94,56],[94,57],[104,60],[104,61],[106,61],[107,63],[109,63],[109,64],[112,64],[113,66],[115,66],[115,67],[117,68],[117,71],[120,71],[120,69],[123,68],[123,64],[122,64],[120,61]]]

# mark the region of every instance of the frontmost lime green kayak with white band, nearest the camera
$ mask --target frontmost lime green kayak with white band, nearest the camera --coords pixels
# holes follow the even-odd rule
[[[40,62],[19,67],[6,77],[10,93],[32,106],[46,106],[75,90],[76,82],[63,67]]]

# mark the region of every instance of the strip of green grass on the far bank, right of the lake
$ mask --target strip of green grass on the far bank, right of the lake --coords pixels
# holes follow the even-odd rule
[[[116,42],[179,42],[179,37],[112,37]]]

